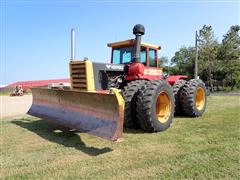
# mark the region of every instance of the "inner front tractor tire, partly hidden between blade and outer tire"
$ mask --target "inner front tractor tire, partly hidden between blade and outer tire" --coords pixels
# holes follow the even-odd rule
[[[137,127],[136,100],[139,90],[146,84],[146,80],[135,80],[127,83],[123,88],[122,95],[125,100],[124,126],[127,128]]]

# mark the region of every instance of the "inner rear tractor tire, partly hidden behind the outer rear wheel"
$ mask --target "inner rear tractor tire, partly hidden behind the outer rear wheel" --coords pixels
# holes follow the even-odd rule
[[[180,79],[175,82],[172,86],[173,88],[173,96],[175,100],[175,115],[182,115],[182,105],[180,103],[180,92],[187,81],[184,79]]]

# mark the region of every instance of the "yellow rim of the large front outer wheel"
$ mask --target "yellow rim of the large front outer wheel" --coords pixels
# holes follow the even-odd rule
[[[161,123],[167,122],[171,114],[171,101],[168,93],[161,91],[157,97],[156,115]]]

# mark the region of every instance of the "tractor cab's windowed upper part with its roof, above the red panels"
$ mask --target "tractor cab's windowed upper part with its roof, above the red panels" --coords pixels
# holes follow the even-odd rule
[[[129,39],[126,41],[109,43],[108,47],[112,48],[111,63],[131,63],[134,56],[134,41],[134,39]],[[158,50],[160,49],[160,46],[141,42],[140,63],[142,63],[145,67],[158,68]]]

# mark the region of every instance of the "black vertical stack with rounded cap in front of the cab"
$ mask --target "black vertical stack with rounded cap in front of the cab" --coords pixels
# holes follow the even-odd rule
[[[133,62],[140,62],[141,36],[145,34],[145,28],[142,24],[136,24],[133,27],[135,37]]]

